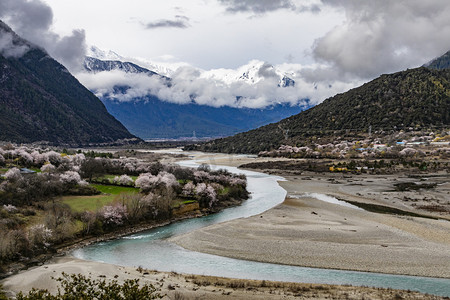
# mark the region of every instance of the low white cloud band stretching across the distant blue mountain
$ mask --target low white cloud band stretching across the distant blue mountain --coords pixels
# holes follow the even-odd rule
[[[254,66],[250,75],[258,76],[256,80],[223,77],[223,74],[242,74],[242,70]],[[281,65],[280,69],[288,71],[295,86],[279,87],[280,71],[263,62],[252,61],[237,70],[204,71],[192,66],[178,68],[171,76],[170,87],[164,80],[145,74],[130,74],[122,71],[78,73],[76,76],[87,88],[99,97],[136,101],[147,95],[157,96],[163,101],[178,104],[195,102],[214,107],[231,106],[263,108],[278,103],[301,105],[305,99],[311,104],[354,86],[355,82],[309,82],[302,78],[307,68],[299,65]],[[216,74],[217,76],[213,76]],[[232,77],[232,76],[231,76]],[[116,86],[129,86],[125,93],[114,89]]]

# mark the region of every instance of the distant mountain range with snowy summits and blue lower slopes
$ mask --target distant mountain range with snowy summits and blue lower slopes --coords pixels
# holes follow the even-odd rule
[[[279,102],[259,108],[226,104],[214,106],[211,102],[213,95],[208,98],[209,102],[202,104],[197,101],[195,89],[187,91],[188,101],[177,102],[176,98],[170,98],[177,97],[180,92],[185,92],[184,89],[195,87],[196,84],[201,88],[204,81],[208,82],[207,89],[211,90],[236,82],[255,87],[267,84],[270,89],[294,85],[292,79],[264,62],[252,61],[238,70],[195,71],[195,83],[190,81],[189,72],[180,71],[173,78],[168,78],[126,61],[112,51],[106,53],[96,50],[90,54],[114,59],[86,57],[85,75],[79,74],[80,81],[85,82],[100,97],[107,110],[130,132],[143,139],[181,138],[192,136],[192,132],[197,137],[228,136],[279,121],[305,108]],[[86,74],[87,77],[81,80]],[[240,91],[245,92],[239,90],[236,96],[231,96],[235,101],[241,95]]]

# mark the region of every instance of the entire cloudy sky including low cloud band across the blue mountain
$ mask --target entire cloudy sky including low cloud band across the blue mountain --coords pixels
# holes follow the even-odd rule
[[[86,5],[75,0],[2,0],[0,18],[45,48],[87,87],[120,101],[150,94],[216,107],[264,107],[303,99],[319,103],[450,49],[448,0],[193,0],[176,6],[147,1],[127,7],[118,0],[99,0],[89,2],[89,9]],[[54,17],[63,11],[67,15]],[[66,20],[75,21],[56,33],[55,24]],[[172,85],[142,74],[80,72],[86,39],[94,34],[92,42],[107,40],[108,49],[141,51],[126,53],[127,60],[160,66],[150,69],[171,77]],[[2,53],[26,51],[11,45],[7,36],[0,38]],[[148,62],[150,57],[161,61]],[[255,61],[255,82],[230,80]],[[201,67],[203,62],[213,66]],[[280,77],[271,64],[295,85],[278,87]],[[114,92],[117,85],[131,88]]]

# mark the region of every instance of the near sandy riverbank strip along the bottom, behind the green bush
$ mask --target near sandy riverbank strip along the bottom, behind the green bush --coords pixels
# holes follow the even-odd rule
[[[174,272],[155,272],[88,262],[72,257],[54,258],[43,266],[11,276],[2,284],[9,296],[13,296],[19,291],[26,293],[32,287],[56,292],[57,282],[52,277],[58,278],[62,272],[117,280],[119,283],[137,278],[140,283],[154,285],[161,294],[165,295],[163,299],[445,299],[439,296],[392,289],[241,280]]]

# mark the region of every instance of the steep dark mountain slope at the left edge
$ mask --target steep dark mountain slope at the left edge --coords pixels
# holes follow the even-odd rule
[[[29,47],[20,58],[0,55],[0,140],[78,145],[134,138],[45,51],[1,21],[0,35]]]

